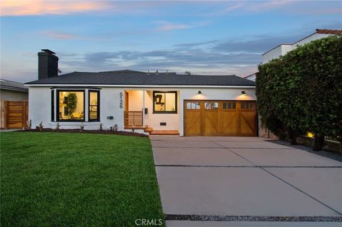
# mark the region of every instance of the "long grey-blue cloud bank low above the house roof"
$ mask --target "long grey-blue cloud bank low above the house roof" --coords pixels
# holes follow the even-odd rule
[[[155,51],[105,51],[63,56],[66,71],[104,71],[117,69],[169,70],[184,73],[249,75],[257,71],[261,53],[279,43],[292,43],[301,36],[251,36],[244,39],[180,43]]]

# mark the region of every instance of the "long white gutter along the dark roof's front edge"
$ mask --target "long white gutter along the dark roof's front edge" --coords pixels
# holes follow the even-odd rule
[[[70,85],[70,84],[26,84],[28,87],[105,87],[105,88],[255,88],[241,85]]]

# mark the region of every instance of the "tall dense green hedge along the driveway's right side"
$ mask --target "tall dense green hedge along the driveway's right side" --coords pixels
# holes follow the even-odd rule
[[[314,132],[342,136],[342,36],[321,38],[259,65],[258,111],[263,124],[281,138]]]

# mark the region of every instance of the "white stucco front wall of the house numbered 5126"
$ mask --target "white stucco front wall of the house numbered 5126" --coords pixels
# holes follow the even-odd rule
[[[183,103],[184,100],[257,100],[254,88],[102,88],[100,90],[100,122],[104,129],[118,124],[118,130],[124,130],[125,90],[130,90],[130,110],[141,111],[143,105],[142,94],[145,93],[145,107],[148,113],[145,116],[145,125],[153,130],[178,130],[183,132]],[[152,90],[177,91],[177,114],[153,114]],[[201,90],[202,95],[197,95]],[[244,90],[247,95],[242,95]],[[120,95],[120,93],[122,95]],[[86,96],[85,117],[88,120],[88,92]],[[55,95],[56,97],[56,95]],[[44,127],[56,128],[57,122],[51,122],[51,88],[30,87],[28,101],[30,108],[28,118],[32,120],[32,127],[43,122]],[[122,102],[122,105],[120,105]],[[113,120],[108,119],[113,116]],[[85,129],[97,130],[100,122],[84,122]],[[160,126],[166,122],[166,126]],[[78,128],[81,122],[59,122],[61,128]]]

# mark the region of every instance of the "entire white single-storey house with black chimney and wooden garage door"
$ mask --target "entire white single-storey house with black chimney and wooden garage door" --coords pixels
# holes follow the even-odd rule
[[[255,85],[237,75],[118,70],[58,75],[52,51],[38,53],[29,89],[32,127],[109,129],[181,136],[257,136]]]

